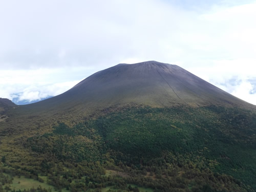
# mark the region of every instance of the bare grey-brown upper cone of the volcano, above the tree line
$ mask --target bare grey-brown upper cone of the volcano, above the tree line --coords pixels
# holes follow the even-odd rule
[[[25,108],[91,111],[131,102],[154,107],[214,104],[254,108],[179,66],[157,61],[119,64],[99,71],[69,91]]]

